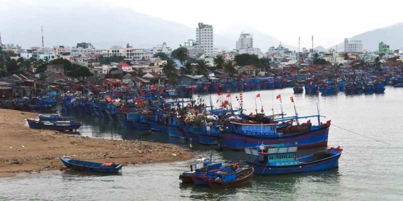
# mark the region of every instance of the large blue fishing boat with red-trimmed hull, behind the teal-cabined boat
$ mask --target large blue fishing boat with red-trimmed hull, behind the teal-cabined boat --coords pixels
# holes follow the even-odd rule
[[[254,147],[261,143],[298,145],[302,148],[327,146],[330,121],[322,124],[319,117],[322,116],[278,118],[264,122],[231,119],[224,125],[219,145],[235,150],[243,150],[245,147]],[[318,118],[318,125],[312,125],[310,121],[297,125],[276,122],[290,121],[292,123],[305,118]]]

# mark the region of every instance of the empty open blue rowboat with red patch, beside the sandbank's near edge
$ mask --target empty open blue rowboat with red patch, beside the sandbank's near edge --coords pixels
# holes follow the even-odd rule
[[[123,166],[123,164],[115,164],[114,162],[95,163],[68,158],[60,158],[60,160],[67,168],[84,172],[117,173]]]

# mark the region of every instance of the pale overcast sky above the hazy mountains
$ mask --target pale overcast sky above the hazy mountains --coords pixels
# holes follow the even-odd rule
[[[63,7],[126,7],[139,13],[182,23],[196,28],[198,22],[213,25],[214,32],[225,36],[227,28],[248,25],[280,41],[301,47],[328,48],[357,34],[403,22],[403,1],[13,1],[0,0],[3,9],[9,4],[41,4]],[[2,9],[2,10],[3,10]],[[33,10],[34,12],[34,10]],[[32,13],[16,13],[32,15]],[[106,14],[107,15],[107,14]],[[11,16],[10,19],[13,17]],[[77,22],[76,22],[77,23]],[[247,30],[245,30],[247,31]],[[403,33],[402,33],[403,34]]]

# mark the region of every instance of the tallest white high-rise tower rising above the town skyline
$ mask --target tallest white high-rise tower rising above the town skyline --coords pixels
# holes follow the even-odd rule
[[[213,26],[198,23],[198,28],[196,28],[196,41],[198,43],[197,47],[203,49],[205,56],[215,56],[213,47]]]

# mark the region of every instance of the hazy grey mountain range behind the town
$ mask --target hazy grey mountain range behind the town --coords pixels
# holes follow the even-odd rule
[[[21,13],[32,13],[16,15]],[[51,4],[31,8],[29,5],[9,5],[0,12],[0,32],[3,43],[18,43],[23,48],[40,46],[41,26],[45,46],[74,46],[79,42],[91,42],[98,48],[109,48],[113,45],[129,43],[135,48],[152,48],[167,42],[171,48],[179,47],[187,39],[195,39],[195,28],[181,23],[141,14],[129,8],[91,7],[59,7]],[[214,26],[214,25],[213,25]],[[235,48],[239,34],[245,31],[253,34],[254,47],[266,52],[271,46],[278,46],[280,40],[260,32],[248,25],[237,25],[226,29],[226,33],[214,34],[214,45],[223,49]],[[392,49],[403,47],[403,23],[383,29],[376,29],[352,37],[362,40],[364,49],[377,50],[380,41],[389,44]],[[295,46],[281,43],[290,50],[298,50]],[[341,50],[343,43],[338,45]],[[318,47],[321,48],[322,47]],[[331,47],[334,48],[334,47]],[[325,50],[324,48],[322,50]]]

